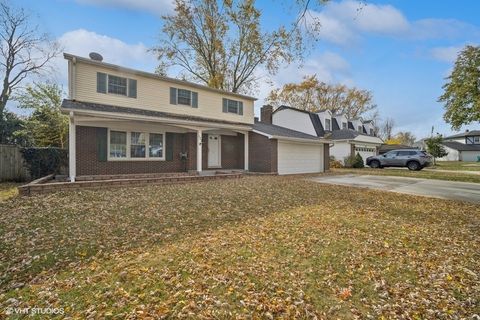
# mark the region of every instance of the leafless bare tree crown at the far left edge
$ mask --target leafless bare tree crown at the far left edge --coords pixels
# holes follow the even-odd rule
[[[25,9],[15,8],[6,1],[0,2],[0,41],[3,80],[0,124],[3,124],[3,113],[12,93],[27,77],[48,71],[48,64],[60,53],[60,46],[40,31]]]

